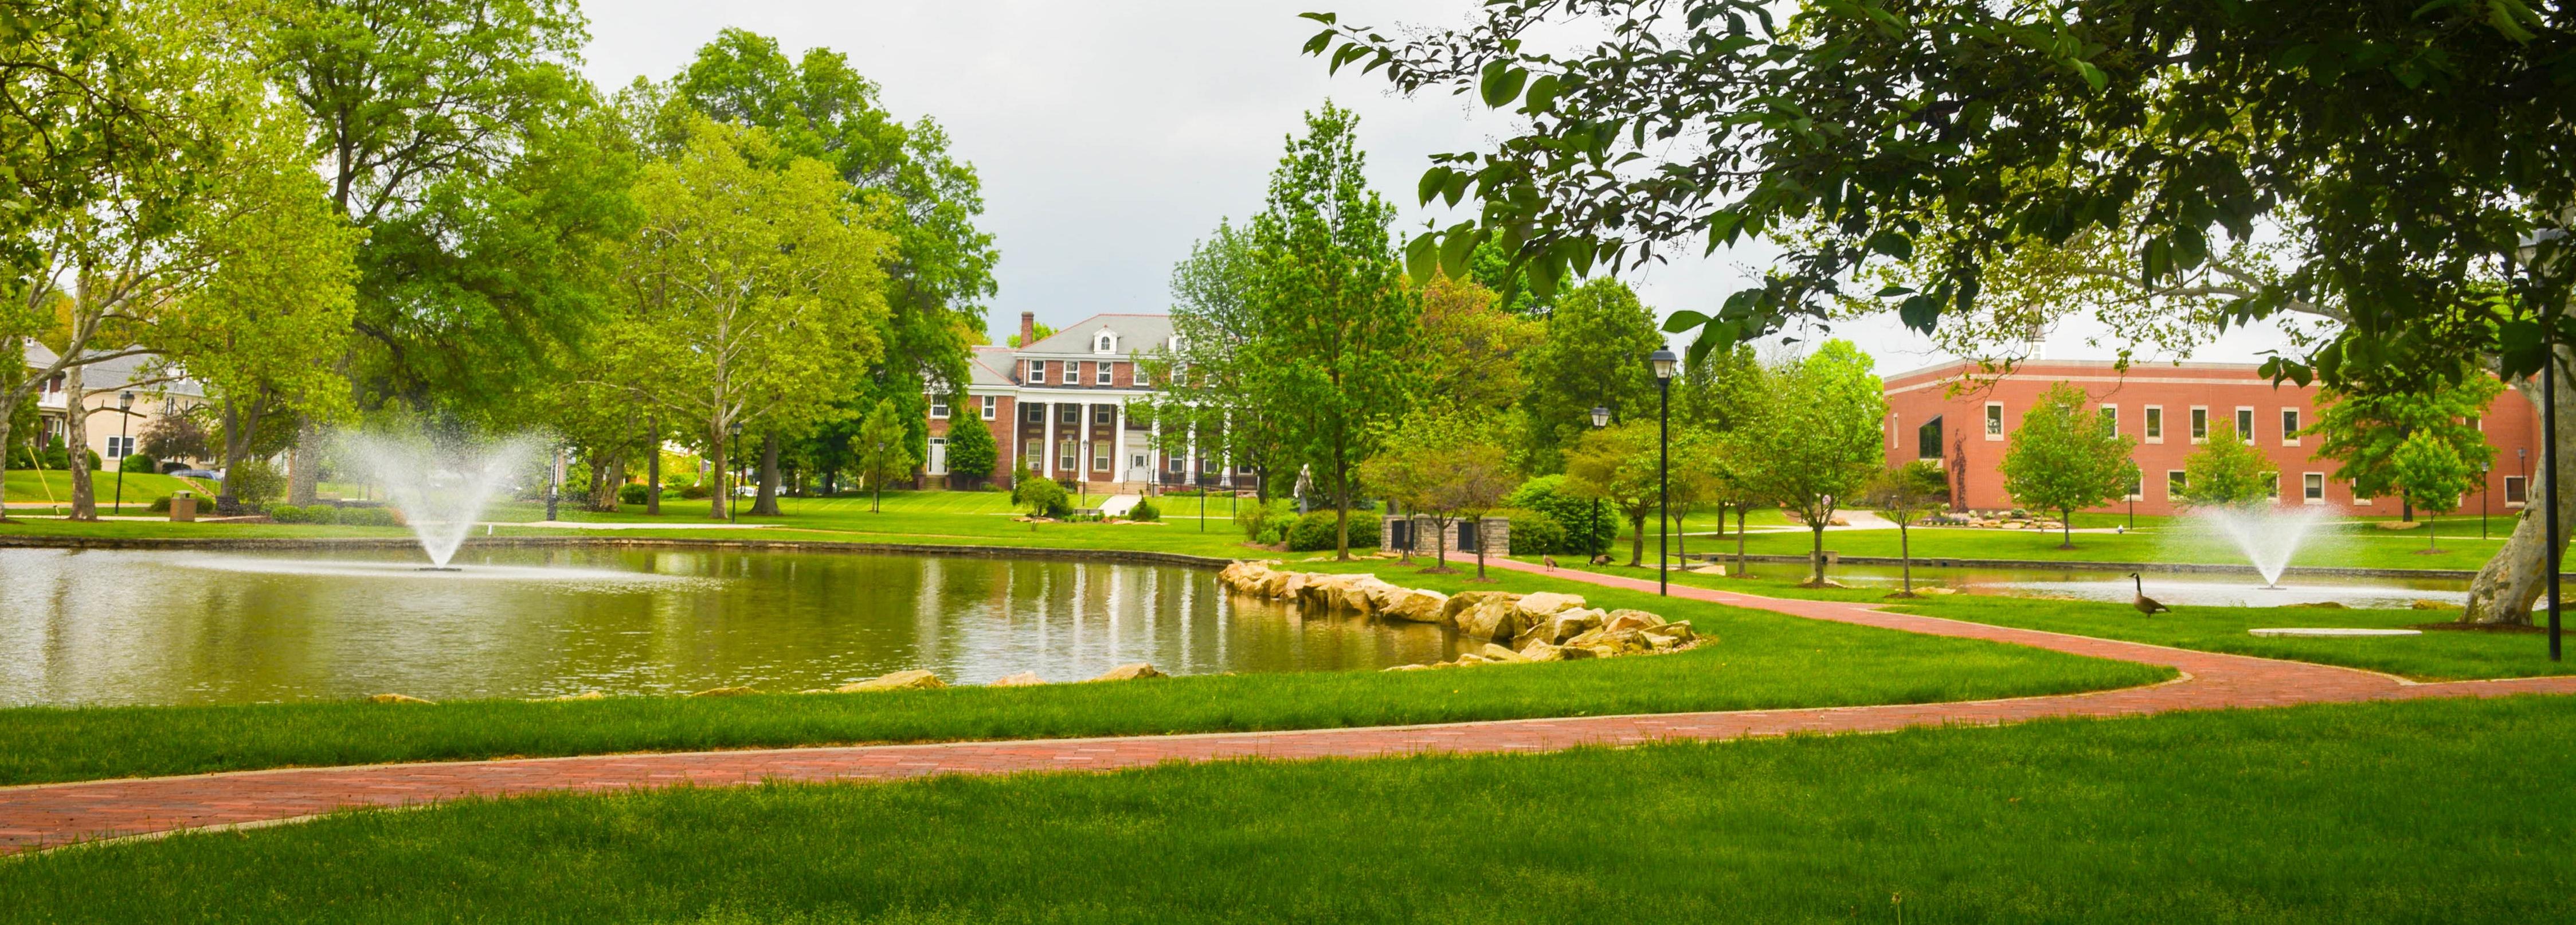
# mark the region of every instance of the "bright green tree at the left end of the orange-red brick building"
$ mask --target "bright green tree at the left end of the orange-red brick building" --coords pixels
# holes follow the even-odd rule
[[[1808,585],[1824,585],[1824,528],[1834,510],[1857,500],[1886,459],[1888,402],[1870,366],[1850,340],[1826,340],[1770,371],[1759,417],[1736,428],[1739,456],[1728,472],[1806,520],[1814,539]]]

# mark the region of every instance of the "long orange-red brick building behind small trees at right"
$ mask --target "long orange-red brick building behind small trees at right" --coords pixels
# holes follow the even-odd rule
[[[2022,425],[2022,412],[2048,386],[2066,381],[2112,417],[2123,435],[2138,441],[2138,513],[2177,513],[2174,487],[2182,461],[2215,428],[2236,425],[2239,435],[2280,466],[2282,505],[2334,505],[2352,513],[2396,515],[2391,497],[2354,497],[2352,482],[2334,482],[2334,461],[2316,456],[2318,438],[2293,435],[2316,423],[2316,386],[2272,386],[2251,363],[2133,363],[2125,374],[2110,361],[2027,361],[1989,386],[1976,384],[1950,394],[1960,379],[1978,376],[1976,363],[1958,361],[1886,379],[1888,461],[1937,459],[1950,472],[1950,502],[1958,510],[2014,508],[2004,495],[2004,448]],[[2530,477],[2540,466],[2540,430],[2532,402],[2506,389],[2478,420],[2496,461],[2486,472],[2483,500],[2463,497],[2460,510],[2522,510]],[[2094,510],[2128,510],[2115,502]]]

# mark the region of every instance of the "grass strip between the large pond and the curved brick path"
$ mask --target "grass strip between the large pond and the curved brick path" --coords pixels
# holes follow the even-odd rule
[[[1466,575],[1412,575],[1396,567],[1383,572],[1412,587],[1468,587]],[[1437,672],[1200,675],[912,693],[0,709],[0,783],[500,755],[1935,703],[2102,691],[2172,678],[2164,667],[2045,649],[1656,600],[1535,575],[1499,577],[1497,585],[1473,587],[1582,593],[1605,608],[1633,606],[1667,618],[1690,618],[1716,642],[1680,654],[1600,662]]]

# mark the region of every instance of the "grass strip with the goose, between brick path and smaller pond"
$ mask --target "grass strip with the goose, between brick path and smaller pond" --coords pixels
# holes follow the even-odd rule
[[[1577,564],[1561,564],[1574,569]],[[1587,567],[1592,572],[1646,577],[1651,569]],[[1883,603],[1909,613],[1945,616],[1971,624],[2045,629],[2058,634],[2148,642],[2177,649],[2259,654],[2275,660],[2365,667],[2416,680],[2576,675],[2576,662],[2550,662],[2537,634],[2509,631],[2427,631],[2421,636],[2375,639],[2282,639],[2246,634],[2257,626],[2365,626],[2403,629],[2447,624],[2452,611],[2336,611],[2336,608],[2202,608],[2177,606],[2172,613],[2143,616],[2125,603],[2048,600],[2012,595],[1945,595],[1888,600],[1888,587],[1798,587],[1798,564],[1754,564],[1754,577],[1672,572],[1674,585],[1741,590],[1770,598],[1816,598]]]

